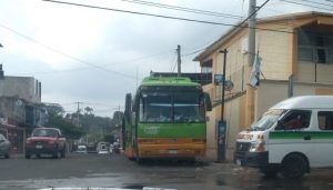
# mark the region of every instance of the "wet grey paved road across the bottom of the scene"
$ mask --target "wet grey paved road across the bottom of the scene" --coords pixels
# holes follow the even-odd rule
[[[65,159],[0,159],[0,189],[48,187],[142,187],[202,189],[333,189],[333,169],[300,180],[265,179],[254,169],[225,163],[153,162],[138,166],[121,154],[70,154]]]

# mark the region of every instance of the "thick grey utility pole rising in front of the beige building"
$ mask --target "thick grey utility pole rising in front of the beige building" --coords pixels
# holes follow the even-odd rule
[[[250,79],[252,66],[255,57],[255,17],[256,0],[250,0],[249,3],[249,67],[248,79]],[[250,126],[254,121],[254,89],[246,87],[246,109],[245,109],[245,124]]]

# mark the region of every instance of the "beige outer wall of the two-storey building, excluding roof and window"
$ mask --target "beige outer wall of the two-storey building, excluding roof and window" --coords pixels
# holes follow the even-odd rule
[[[326,18],[327,19],[327,18]],[[314,63],[297,61],[297,37],[295,27],[316,21],[314,16],[299,19],[284,19],[274,21],[259,22],[258,28],[280,30],[284,32],[275,32],[270,30],[256,30],[256,49],[262,58],[261,84],[254,91],[254,118],[255,120],[270,107],[276,102],[287,98],[287,79],[293,73],[295,76],[294,96],[301,94],[333,94],[333,64],[317,64],[317,78],[314,83]],[[327,21],[327,20],[326,20]],[[332,21],[332,17],[329,18]],[[333,22],[332,22],[333,24]],[[213,74],[222,73],[223,53],[220,51],[228,49],[225,76],[226,80],[231,80],[234,88],[225,92],[225,111],[224,119],[228,124],[226,140],[226,159],[232,159],[236,134],[246,129],[245,104],[246,104],[246,84],[249,83],[249,71],[251,67],[248,63],[246,40],[248,30],[236,30],[232,34],[228,34],[228,39],[223,38],[221,46],[210,53],[204,60],[212,60]],[[221,100],[221,87],[209,84],[204,90],[211,94],[212,102]],[[242,96],[238,96],[243,93]],[[238,98],[234,98],[234,97]],[[216,158],[216,121],[220,120],[221,107],[215,107],[208,113],[210,121],[208,122],[208,158]]]

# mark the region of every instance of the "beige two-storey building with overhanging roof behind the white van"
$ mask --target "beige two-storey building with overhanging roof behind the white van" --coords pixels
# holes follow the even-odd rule
[[[209,46],[194,60],[204,71],[222,73],[226,49],[225,78],[233,89],[225,92],[226,159],[232,160],[235,137],[268,108],[286,99],[289,78],[293,79],[293,96],[333,94],[333,14],[304,12],[259,19],[256,50],[261,60],[261,81],[250,98],[248,64],[248,23],[233,28]],[[216,122],[221,116],[221,87],[203,86],[214,101],[209,113],[208,158],[216,159]],[[252,102],[251,102],[252,101]],[[253,107],[249,107],[249,104]],[[250,113],[249,113],[250,112]],[[251,118],[251,114],[253,116]]]

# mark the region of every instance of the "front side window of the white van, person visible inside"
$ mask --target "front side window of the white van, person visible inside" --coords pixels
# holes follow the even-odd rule
[[[292,110],[281,120],[279,129],[295,130],[309,128],[311,120],[311,111],[307,110]]]

